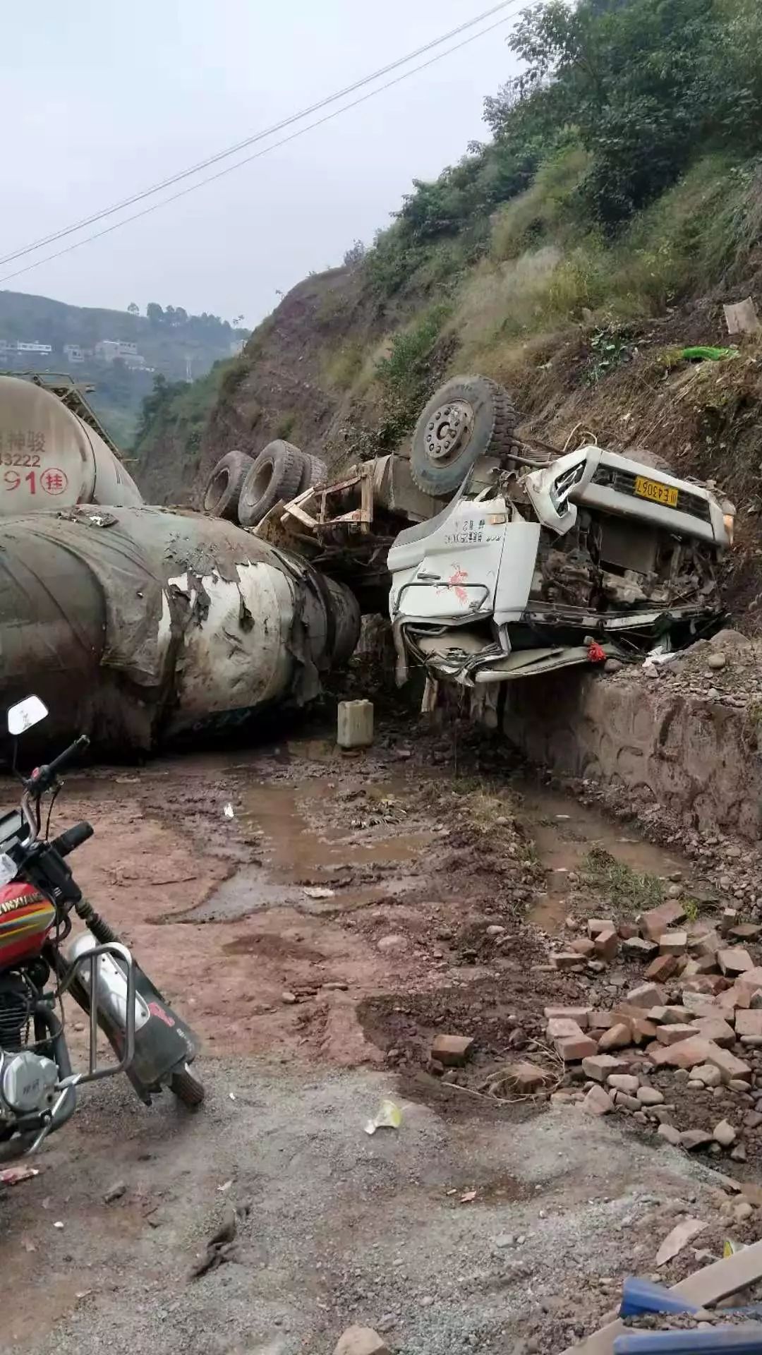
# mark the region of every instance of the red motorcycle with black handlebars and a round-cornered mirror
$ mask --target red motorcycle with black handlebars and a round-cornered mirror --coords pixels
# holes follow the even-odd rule
[[[46,715],[37,696],[8,710],[14,771],[19,734]],[[193,1031],[83,897],[66,863],[92,837],[92,827],[79,822],[49,839],[58,778],[88,743],[81,736],[52,763],[20,776],[20,809],[0,816],[0,1163],[37,1152],[71,1119],[80,1087],[122,1072],[145,1104],[164,1088],[190,1107],[203,1100],[203,1085],[190,1069],[197,1053]],[[66,946],[72,913],[87,931]],[[72,1072],[66,1045],[66,993],[89,1020],[81,1072]],[[115,1061],[100,1061],[99,1031]]]

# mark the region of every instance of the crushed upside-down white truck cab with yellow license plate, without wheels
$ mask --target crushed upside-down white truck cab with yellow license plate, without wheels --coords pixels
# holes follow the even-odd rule
[[[401,676],[407,654],[504,682],[584,663],[591,641],[622,657],[679,648],[720,615],[732,512],[709,489],[597,446],[489,488],[469,480],[389,550]]]

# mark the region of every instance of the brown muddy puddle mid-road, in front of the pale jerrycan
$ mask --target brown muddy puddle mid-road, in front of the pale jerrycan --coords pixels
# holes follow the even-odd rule
[[[399,787],[396,787],[399,790]],[[404,894],[416,863],[433,841],[428,832],[408,832],[388,783],[370,787],[362,801],[342,805],[342,822],[313,827],[335,786],[324,778],[290,785],[258,782],[241,793],[236,817],[258,840],[262,863],[226,879],[194,921],[233,921],[267,908],[290,905],[305,913],[336,913]]]

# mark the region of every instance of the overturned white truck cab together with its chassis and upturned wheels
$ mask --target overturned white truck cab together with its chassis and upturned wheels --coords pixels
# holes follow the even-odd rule
[[[388,611],[400,683],[423,668],[487,698],[717,629],[735,508],[716,486],[590,435],[563,451],[522,440],[518,421],[502,386],[456,377],[409,447],[334,482],[294,495],[298,450],[273,443],[243,480],[241,520]]]

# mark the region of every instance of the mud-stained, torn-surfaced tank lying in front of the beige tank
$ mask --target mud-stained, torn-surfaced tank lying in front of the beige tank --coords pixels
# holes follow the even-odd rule
[[[149,751],[302,706],[359,635],[351,592],[229,522],[161,508],[0,520],[0,703],[46,738]]]

